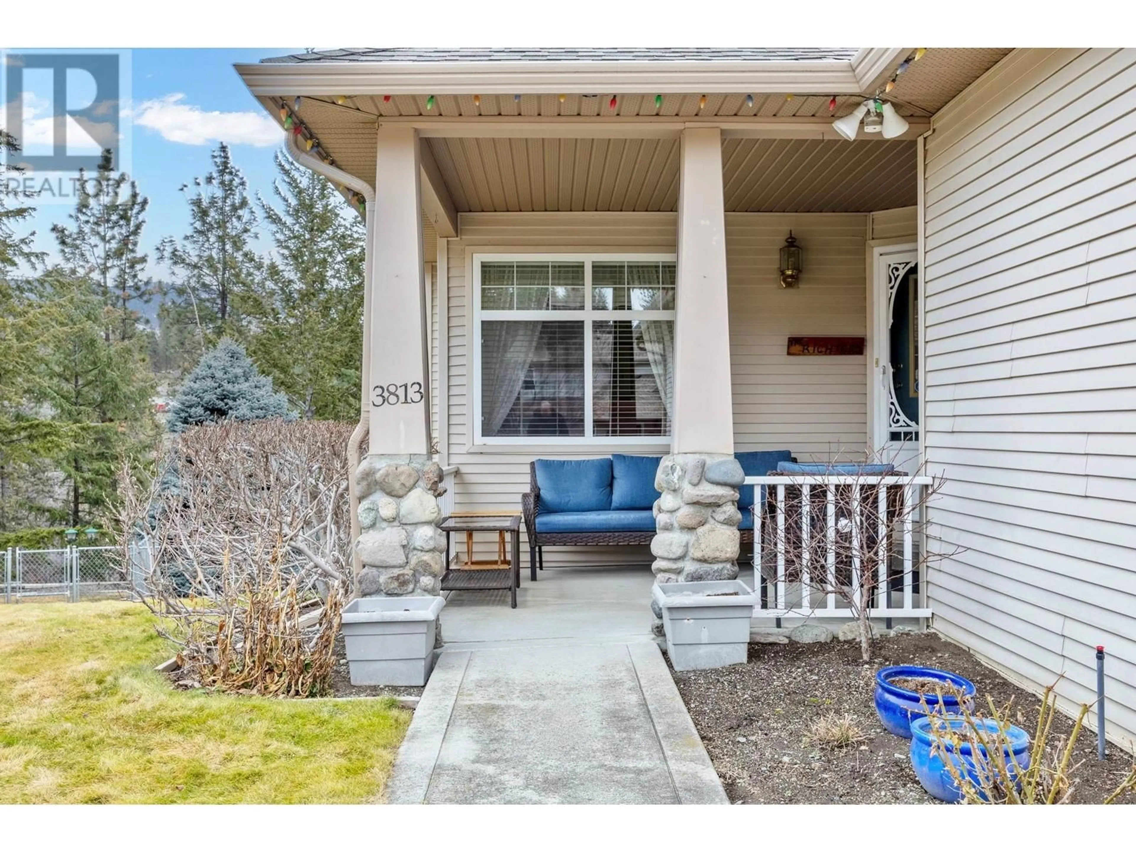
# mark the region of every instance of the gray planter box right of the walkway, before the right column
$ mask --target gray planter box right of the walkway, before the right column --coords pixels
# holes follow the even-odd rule
[[[737,579],[667,583],[651,592],[662,610],[667,655],[675,671],[745,662],[750,619],[758,602]]]

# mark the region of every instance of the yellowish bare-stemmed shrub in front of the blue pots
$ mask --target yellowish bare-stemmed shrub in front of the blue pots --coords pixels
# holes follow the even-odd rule
[[[930,715],[932,753],[941,757],[951,782],[962,793],[968,804],[1067,804],[1077,787],[1077,770],[1084,761],[1072,762],[1077,737],[1084,728],[1089,705],[1081,704],[1068,737],[1051,736],[1056,709],[1056,683],[1046,687],[1037,711],[1037,725],[1029,747],[1029,766],[1019,765],[1010,749],[1008,732],[1016,713],[1009,702],[996,707],[986,698],[989,716],[980,719],[961,708],[961,726],[947,725],[941,717]],[[925,702],[926,708],[926,702]],[[958,718],[958,717],[955,717]],[[988,724],[996,722],[991,730]],[[961,763],[958,754],[968,746],[971,758]],[[1136,766],[1109,795],[1105,804],[1118,801],[1136,788]]]

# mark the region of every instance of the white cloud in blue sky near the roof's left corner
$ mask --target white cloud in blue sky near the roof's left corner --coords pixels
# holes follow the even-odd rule
[[[134,109],[134,123],[185,145],[227,142],[268,148],[284,137],[279,125],[264,112],[207,112],[183,103],[184,99],[184,94],[174,93],[143,101]]]

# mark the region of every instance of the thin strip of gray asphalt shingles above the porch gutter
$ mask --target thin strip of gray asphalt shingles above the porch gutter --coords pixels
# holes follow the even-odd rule
[[[272,57],[264,62],[722,61],[850,60],[857,48],[348,48]]]

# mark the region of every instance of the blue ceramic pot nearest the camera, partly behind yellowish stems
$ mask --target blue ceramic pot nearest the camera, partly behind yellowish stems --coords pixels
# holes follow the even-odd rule
[[[934,747],[935,737],[930,733],[930,726],[934,722],[942,721],[947,725],[952,730],[966,730],[967,720],[961,716],[944,716],[942,718],[936,717],[936,719],[928,719],[926,716],[920,719],[914,719],[911,722],[911,768],[914,769],[916,776],[919,778],[919,783],[922,784],[924,790],[930,793],[933,796],[938,799],[941,802],[958,802],[962,799],[962,791],[955,785],[954,779],[951,777],[951,772],[946,769],[944,760],[950,760],[955,769],[960,774],[966,774],[971,782],[978,785],[979,774],[976,766],[983,767],[983,774],[988,774],[991,770],[986,768],[986,749],[982,745],[977,745],[978,754],[971,751],[971,744],[969,742],[961,743],[958,749],[955,749],[950,743],[944,742],[944,752],[937,752]],[[988,732],[991,736],[995,735],[999,729],[999,724],[994,719],[975,719],[975,725],[982,730]],[[1029,734],[1019,727],[1011,725],[1004,734],[1005,747],[1003,752],[1005,754],[1005,762],[1010,767],[1010,772],[1013,776],[1011,782],[1017,780],[1017,770],[1013,767],[1013,762],[1010,760],[1010,753],[1013,753],[1014,760],[1018,762],[1018,768],[1025,771],[1029,768]]]

